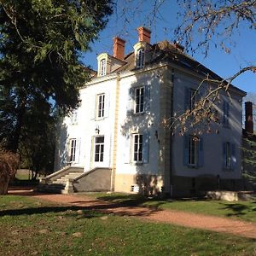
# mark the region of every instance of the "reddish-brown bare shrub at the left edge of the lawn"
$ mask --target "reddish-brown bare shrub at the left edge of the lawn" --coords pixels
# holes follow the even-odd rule
[[[0,148],[0,195],[6,195],[9,180],[15,177],[19,156]]]

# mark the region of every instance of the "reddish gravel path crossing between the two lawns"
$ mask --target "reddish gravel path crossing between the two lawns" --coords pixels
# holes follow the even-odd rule
[[[44,195],[35,193],[32,190],[10,190],[9,194],[28,195],[47,201],[84,207],[85,209],[88,208],[122,216],[134,216],[154,222],[177,224],[195,229],[212,230],[256,239],[256,224],[229,218],[219,218],[171,210],[149,209],[146,207],[124,207],[119,204],[98,201],[90,197],[86,197],[85,195]]]

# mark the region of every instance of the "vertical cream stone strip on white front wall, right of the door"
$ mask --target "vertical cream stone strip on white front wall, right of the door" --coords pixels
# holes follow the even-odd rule
[[[116,78],[116,90],[115,90],[115,109],[114,109],[114,125],[113,125],[113,167],[111,171],[111,183],[110,190],[114,191],[114,183],[116,176],[116,160],[117,160],[117,139],[118,139],[118,125],[119,125],[119,73]]]

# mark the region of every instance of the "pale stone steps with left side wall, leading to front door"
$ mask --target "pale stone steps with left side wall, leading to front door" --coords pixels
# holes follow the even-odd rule
[[[73,180],[84,173],[83,168],[67,166],[40,179],[38,191],[69,194],[73,193]]]

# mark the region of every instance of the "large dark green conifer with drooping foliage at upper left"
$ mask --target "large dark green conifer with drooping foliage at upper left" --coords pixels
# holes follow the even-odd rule
[[[79,57],[112,12],[109,0],[3,0],[0,4],[0,143],[17,152],[38,96],[62,113],[90,79]],[[37,122],[37,119],[33,120]]]

